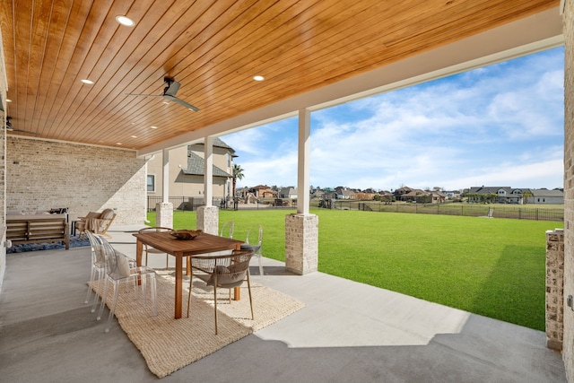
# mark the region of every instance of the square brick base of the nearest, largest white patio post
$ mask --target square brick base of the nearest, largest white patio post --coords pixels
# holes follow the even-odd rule
[[[315,214],[285,216],[285,268],[295,274],[317,271],[319,218]]]

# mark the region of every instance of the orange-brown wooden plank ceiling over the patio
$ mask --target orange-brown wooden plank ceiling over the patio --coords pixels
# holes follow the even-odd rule
[[[13,127],[43,138],[134,149],[560,3],[0,1]],[[117,15],[130,17],[135,27],[118,24]],[[126,95],[159,95],[164,76],[181,83],[178,98],[200,110]]]

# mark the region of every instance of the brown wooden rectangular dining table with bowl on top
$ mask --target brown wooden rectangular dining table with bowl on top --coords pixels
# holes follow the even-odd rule
[[[195,239],[175,239],[169,231],[135,233],[135,262],[142,265],[143,244],[165,251],[176,259],[175,318],[181,318],[183,297],[183,260],[187,259],[187,274],[191,274],[189,257],[218,251],[240,249],[243,241],[202,233]],[[239,300],[239,289],[235,290],[235,300]]]

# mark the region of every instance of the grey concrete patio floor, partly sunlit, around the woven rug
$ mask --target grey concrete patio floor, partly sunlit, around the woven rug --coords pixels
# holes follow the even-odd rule
[[[109,241],[135,257],[135,227]],[[265,243],[264,243],[265,254]],[[7,256],[0,294],[0,381],[151,382],[114,320],[83,304],[89,248]],[[150,265],[165,267],[165,256]],[[171,260],[171,265],[173,261]],[[253,280],[305,309],[161,379],[165,382],[566,382],[543,332],[264,259]],[[190,340],[193,342],[193,340]]]

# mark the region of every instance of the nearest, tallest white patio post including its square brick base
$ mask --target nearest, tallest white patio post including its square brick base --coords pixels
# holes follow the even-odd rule
[[[316,214],[309,213],[310,111],[299,111],[299,163],[297,213],[285,217],[285,268],[295,274],[317,271],[318,227]]]

